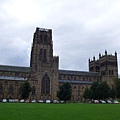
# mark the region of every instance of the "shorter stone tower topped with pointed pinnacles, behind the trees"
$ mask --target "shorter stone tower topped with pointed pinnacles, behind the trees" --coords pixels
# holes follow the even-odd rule
[[[117,53],[114,55],[99,54],[99,59],[93,60],[89,59],[89,71],[90,72],[100,72],[101,80],[106,81],[110,86],[113,84],[114,78],[118,77],[118,65],[117,65]]]

